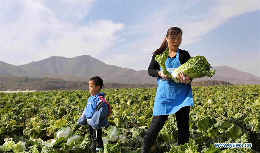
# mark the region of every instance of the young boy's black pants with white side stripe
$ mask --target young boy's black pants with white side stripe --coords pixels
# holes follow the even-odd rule
[[[103,148],[103,141],[102,141],[102,129],[94,129],[92,126],[88,124],[88,131],[90,133],[90,137],[92,139],[92,149],[96,152],[97,148]],[[97,132],[97,133],[96,133]]]

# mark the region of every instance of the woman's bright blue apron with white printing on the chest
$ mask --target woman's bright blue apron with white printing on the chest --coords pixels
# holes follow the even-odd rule
[[[180,66],[179,49],[176,58],[167,58],[165,66],[170,73]],[[163,78],[157,78],[157,83],[153,116],[174,114],[182,107],[194,105],[190,84],[176,83],[172,79]]]

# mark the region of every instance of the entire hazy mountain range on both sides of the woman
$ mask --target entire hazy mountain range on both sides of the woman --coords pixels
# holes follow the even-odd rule
[[[228,66],[212,67],[216,74],[212,78],[204,77],[194,79],[219,80],[238,84],[260,84],[260,77],[242,72]],[[51,56],[37,62],[25,65],[12,65],[0,61],[0,75],[13,77],[54,77],[67,81],[88,81],[93,76],[100,76],[104,82],[123,84],[156,84],[156,78],[148,75],[147,70],[134,69],[108,65],[89,55],[73,58]]]

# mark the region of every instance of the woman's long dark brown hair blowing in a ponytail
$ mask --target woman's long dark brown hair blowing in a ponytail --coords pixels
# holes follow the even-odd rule
[[[176,37],[179,33],[181,32],[181,35],[183,34],[182,30],[178,27],[171,27],[167,30],[167,33],[166,33],[166,37],[169,37],[170,36],[170,41]],[[155,50],[152,54],[163,54],[163,52],[166,50],[166,48],[168,47],[168,43],[167,43],[167,40],[166,40],[166,37],[164,38],[163,40],[163,44],[161,45],[161,47],[157,50]]]

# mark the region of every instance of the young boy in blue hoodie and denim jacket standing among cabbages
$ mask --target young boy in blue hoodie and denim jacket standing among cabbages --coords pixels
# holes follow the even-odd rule
[[[86,124],[92,139],[92,149],[95,152],[103,150],[102,129],[108,126],[107,117],[110,115],[110,105],[105,100],[105,93],[100,92],[103,80],[96,76],[89,80],[88,90],[91,97],[80,117],[78,124]]]

